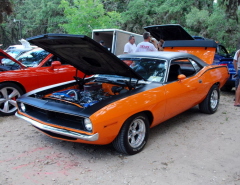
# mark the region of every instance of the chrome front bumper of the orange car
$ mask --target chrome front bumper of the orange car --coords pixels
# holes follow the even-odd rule
[[[32,124],[34,127],[37,127],[41,130],[46,130],[46,131],[53,132],[53,133],[56,133],[56,134],[60,134],[60,135],[64,135],[64,136],[68,136],[68,137],[72,137],[72,138],[76,138],[76,139],[82,139],[82,140],[86,140],[86,141],[96,141],[96,140],[98,140],[98,136],[99,136],[98,133],[90,135],[90,136],[89,135],[84,135],[84,134],[80,134],[80,133],[77,133],[77,132],[72,132],[72,131],[69,131],[69,130],[44,125],[42,123],[39,123],[37,121],[34,121],[34,120],[26,117],[26,116],[22,116],[21,114],[18,114],[17,112],[16,112],[15,115],[17,117],[21,118],[21,119],[26,120],[27,122]]]

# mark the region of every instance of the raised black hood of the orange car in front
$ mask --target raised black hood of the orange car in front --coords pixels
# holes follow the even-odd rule
[[[45,34],[27,40],[86,75],[111,74],[143,79],[117,56],[85,35]]]

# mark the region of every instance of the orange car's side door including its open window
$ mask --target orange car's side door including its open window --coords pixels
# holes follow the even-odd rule
[[[165,112],[166,118],[173,117],[193,107],[201,98],[201,91],[199,91],[201,88],[201,81],[196,76],[200,67],[193,66],[192,62],[194,61],[190,61],[189,59],[178,59],[172,61],[170,64],[168,78],[165,84],[167,99]],[[171,72],[171,66],[174,65],[180,67],[177,72]],[[172,73],[176,76],[170,79]],[[186,78],[178,80],[177,76],[179,74],[184,74]]]

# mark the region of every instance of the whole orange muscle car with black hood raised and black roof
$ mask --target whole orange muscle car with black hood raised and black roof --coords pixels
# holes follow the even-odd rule
[[[199,105],[212,114],[226,66],[181,52],[116,57],[84,35],[47,34],[29,39],[75,66],[88,78],[43,87],[17,99],[16,116],[46,135],[105,145],[129,155],[147,143],[149,128]],[[208,45],[204,46],[207,51]]]

